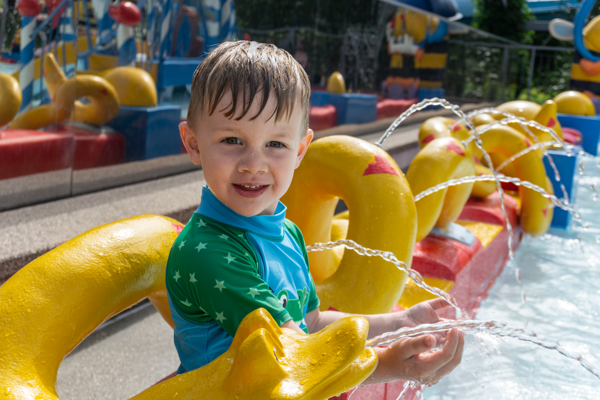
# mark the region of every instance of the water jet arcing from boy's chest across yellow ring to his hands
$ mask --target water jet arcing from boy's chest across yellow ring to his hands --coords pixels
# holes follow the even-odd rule
[[[332,248],[334,248],[336,246],[340,246],[340,245],[343,245],[347,249],[352,249],[360,255],[368,255],[370,257],[378,256],[378,257],[383,258],[383,260],[389,261],[390,263],[394,264],[401,271],[406,272],[410,276],[410,279],[412,279],[413,282],[415,282],[415,284],[418,287],[427,290],[429,293],[434,294],[435,296],[442,297],[442,299],[446,300],[449,304],[454,306],[454,308],[456,308],[458,311],[460,311],[463,314],[463,316],[469,315],[469,314],[467,314],[466,311],[464,311],[462,308],[460,308],[460,306],[458,306],[458,303],[456,302],[454,297],[452,297],[451,294],[446,293],[445,291],[441,290],[440,288],[426,284],[420,273],[418,273],[414,269],[407,266],[406,263],[404,263],[403,261],[398,260],[398,258],[396,258],[394,253],[392,253],[391,251],[370,249],[370,248],[361,246],[358,243],[356,243],[354,240],[350,240],[350,239],[339,239],[339,240],[335,240],[335,242],[326,242],[326,243],[313,243],[310,246],[306,246],[306,251],[321,251],[321,250],[325,250],[325,249],[332,249]]]

